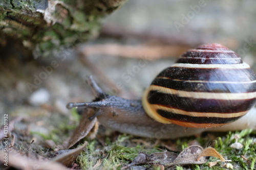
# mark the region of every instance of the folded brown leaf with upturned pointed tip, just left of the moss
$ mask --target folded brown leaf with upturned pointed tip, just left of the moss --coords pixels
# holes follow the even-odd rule
[[[86,147],[87,141],[81,145],[81,147],[78,147],[76,149],[72,150],[61,150],[56,152],[55,155],[57,155],[54,159],[52,159],[53,162],[59,162],[67,167],[71,166],[73,162],[76,160],[76,158],[80,155],[84,147]]]

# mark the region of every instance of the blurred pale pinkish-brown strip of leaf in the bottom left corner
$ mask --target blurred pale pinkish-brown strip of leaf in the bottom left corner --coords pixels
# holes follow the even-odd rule
[[[7,153],[7,152],[6,152]],[[5,152],[0,151],[0,157],[6,156]],[[65,170],[67,167],[61,165],[58,162],[51,162],[49,160],[38,160],[35,158],[22,155],[16,151],[8,153],[8,161],[0,159],[3,164],[7,163],[8,167],[15,167],[16,169],[40,169],[40,170]]]

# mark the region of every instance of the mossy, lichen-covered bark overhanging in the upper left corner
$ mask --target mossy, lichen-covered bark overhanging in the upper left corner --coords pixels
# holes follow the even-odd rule
[[[47,56],[97,36],[100,21],[126,0],[4,0],[0,2],[0,45],[11,38]]]

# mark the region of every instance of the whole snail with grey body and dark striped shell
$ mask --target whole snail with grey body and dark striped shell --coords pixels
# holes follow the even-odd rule
[[[142,101],[106,94],[92,76],[88,83],[96,101],[69,103],[67,108],[95,108],[93,117],[104,127],[141,137],[178,138],[215,130],[240,119],[256,103],[253,71],[236,53],[218,43],[185,52],[160,72]],[[255,128],[250,117],[251,122],[242,122],[245,128]],[[239,129],[239,123],[236,125]]]

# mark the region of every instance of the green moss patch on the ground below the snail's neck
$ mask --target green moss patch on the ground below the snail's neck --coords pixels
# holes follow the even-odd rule
[[[106,145],[100,148],[96,140],[90,141],[86,151],[78,157],[77,163],[82,169],[92,169],[96,162],[101,160],[102,163],[96,169],[120,169],[129,164],[140,152],[160,152],[156,148],[148,150],[143,145],[127,147],[131,138],[131,135],[125,134],[119,135],[114,142],[110,142],[110,139],[106,138]]]

